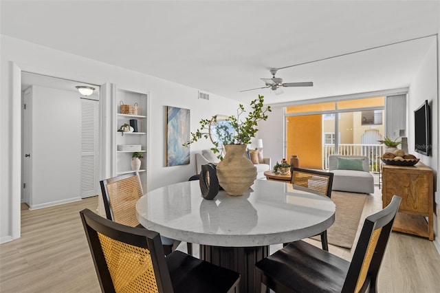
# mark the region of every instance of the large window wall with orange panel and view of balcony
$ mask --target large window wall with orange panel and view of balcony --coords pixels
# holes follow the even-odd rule
[[[384,96],[287,107],[287,158],[298,155],[302,167],[327,169],[331,154],[366,155],[378,172],[384,107]]]

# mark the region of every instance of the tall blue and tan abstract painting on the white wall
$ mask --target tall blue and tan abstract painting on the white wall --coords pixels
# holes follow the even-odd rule
[[[190,148],[183,146],[190,140],[190,110],[166,107],[166,166],[190,163]]]

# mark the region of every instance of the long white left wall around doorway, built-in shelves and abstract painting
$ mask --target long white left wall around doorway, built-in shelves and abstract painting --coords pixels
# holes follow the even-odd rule
[[[164,106],[184,107],[191,110],[191,129],[195,131],[201,118],[221,113],[235,113],[238,102],[221,96],[210,95],[210,100],[197,100],[197,89],[160,78],[147,76],[91,59],[47,47],[28,43],[9,36],[0,36],[1,43],[1,101],[0,101],[0,243],[20,235],[20,180],[21,180],[21,70],[56,76],[84,83],[104,85],[102,99],[102,155],[104,155],[101,179],[110,177],[111,116],[115,105],[109,105],[110,83],[122,89],[149,92],[148,110],[149,149],[148,172],[150,188],[188,180],[195,174],[196,151],[210,148],[207,141],[191,146],[191,163],[186,166],[165,167],[166,131]],[[146,52],[148,54],[148,52]],[[17,98],[18,97],[18,98]],[[14,125],[14,128],[12,128]]]

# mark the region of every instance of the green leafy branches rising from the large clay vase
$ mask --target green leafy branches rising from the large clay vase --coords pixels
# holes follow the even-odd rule
[[[214,147],[211,150],[214,153],[220,153],[218,158],[223,160],[223,150],[219,151],[221,145],[225,144],[250,144],[251,139],[255,137],[259,131],[258,122],[261,120],[267,120],[267,112],[272,111],[270,106],[264,106],[264,96],[260,96],[258,99],[250,102],[251,111],[246,112],[245,107],[240,104],[236,110],[236,116],[228,116],[229,124],[219,124],[215,130],[214,135],[217,136],[217,140],[212,140]],[[243,117],[245,113],[248,116]],[[209,138],[212,135],[210,131],[211,122],[217,122],[217,116],[212,116],[211,119],[201,119],[200,127],[194,133],[191,133],[190,140],[184,144],[189,146],[193,142],[197,142],[201,138]],[[233,132],[230,131],[233,130]]]

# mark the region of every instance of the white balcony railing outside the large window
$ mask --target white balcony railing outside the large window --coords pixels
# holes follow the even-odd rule
[[[371,173],[380,172],[380,158],[384,153],[382,144],[339,144],[338,155],[365,155],[369,158]],[[329,169],[329,155],[335,155],[334,144],[324,144],[324,153],[322,160],[322,169]]]

